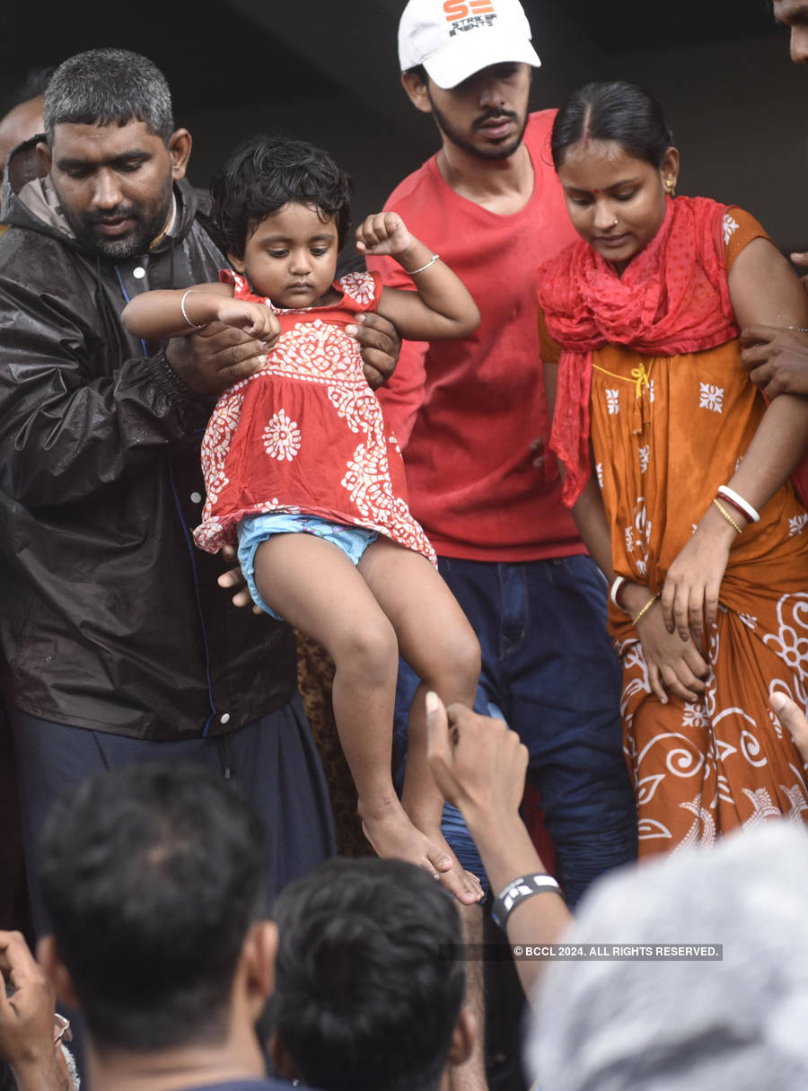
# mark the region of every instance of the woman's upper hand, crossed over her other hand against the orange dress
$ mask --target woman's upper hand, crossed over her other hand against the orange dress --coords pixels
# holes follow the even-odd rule
[[[745,524],[737,514],[738,525]],[[662,588],[662,616],[668,633],[677,632],[683,640],[692,636],[701,644],[704,633],[715,624],[721,580],[737,530],[715,505],[710,505],[692,537],[667,570]]]

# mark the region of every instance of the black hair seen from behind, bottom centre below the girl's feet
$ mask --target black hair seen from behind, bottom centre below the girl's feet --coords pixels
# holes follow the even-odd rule
[[[455,900],[413,864],[335,860],[288,886],[273,916],[275,1029],[301,1079],[438,1088],[466,988],[446,957],[462,936]]]

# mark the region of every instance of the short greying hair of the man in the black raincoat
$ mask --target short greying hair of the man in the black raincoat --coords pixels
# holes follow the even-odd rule
[[[165,75],[148,58],[128,49],[88,49],[69,57],[50,79],[43,113],[48,144],[59,124],[143,121],[166,144],[174,128]]]

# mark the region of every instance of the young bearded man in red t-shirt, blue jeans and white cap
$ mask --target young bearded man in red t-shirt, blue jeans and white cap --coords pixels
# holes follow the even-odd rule
[[[607,588],[532,446],[550,432],[535,271],[576,237],[550,155],[554,111],[528,112],[539,58],[518,0],[410,0],[399,57],[442,147],[385,207],[430,240],[482,321],[463,340],[405,344],[379,394],[413,514],[482,645],[477,708],[502,710],[530,750],[574,903],[635,856],[637,831]],[[387,259],[369,264],[385,283],[411,283]],[[453,814],[453,848],[482,874],[457,826]]]

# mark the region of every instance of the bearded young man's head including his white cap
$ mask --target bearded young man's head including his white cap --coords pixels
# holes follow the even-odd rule
[[[398,27],[401,82],[444,146],[491,160],[517,151],[541,63],[530,38],[519,0],[410,0]]]

